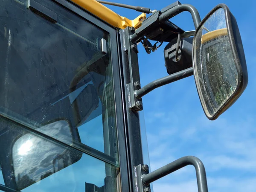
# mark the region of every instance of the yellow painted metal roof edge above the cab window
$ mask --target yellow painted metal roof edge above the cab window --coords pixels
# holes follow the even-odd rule
[[[81,6],[88,12],[96,15],[97,17],[105,20],[107,23],[111,24],[114,27],[125,29],[128,26],[133,26],[137,29],[143,20],[146,18],[146,14],[143,13],[134,20],[129,20],[126,17],[122,17],[117,13],[113,12],[111,9],[108,9],[106,6],[97,2],[96,0],[72,0],[77,5]]]

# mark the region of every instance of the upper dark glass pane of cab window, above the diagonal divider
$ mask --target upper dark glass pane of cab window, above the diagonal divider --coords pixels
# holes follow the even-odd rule
[[[57,13],[58,22],[16,0],[0,5],[0,114],[35,129],[66,120],[73,145],[81,137],[100,138],[97,150],[118,161],[108,32],[51,0],[36,1]],[[107,54],[100,50],[102,38]]]

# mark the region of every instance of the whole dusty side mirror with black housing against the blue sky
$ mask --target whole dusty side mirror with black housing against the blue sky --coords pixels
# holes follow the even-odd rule
[[[192,50],[195,83],[204,113],[217,119],[241,96],[248,75],[235,17],[220,4],[195,31]]]

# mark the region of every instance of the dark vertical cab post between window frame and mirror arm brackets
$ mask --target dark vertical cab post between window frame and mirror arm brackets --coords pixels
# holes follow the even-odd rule
[[[131,49],[131,42],[129,41],[129,35],[131,34],[131,30],[128,28],[120,30],[119,37],[121,47],[119,56],[121,61],[120,70],[122,77],[123,114],[125,117],[125,145],[127,153],[129,192],[136,192],[137,190],[134,188],[135,183],[133,179],[134,166],[143,163],[143,150],[140,136],[139,113],[137,111],[132,111],[129,108],[129,93],[126,86],[127,84],[134,84],[136,81],[140,82],[138,55],[137,52]],[[136,137],[134,137],[134,135]],[[122,163],[122,160],[120,163]]]

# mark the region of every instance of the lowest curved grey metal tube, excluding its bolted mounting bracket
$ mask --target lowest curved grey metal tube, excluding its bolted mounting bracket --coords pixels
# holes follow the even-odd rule
[[[172,163],[169,163],[168,165],[155,170],[154,172],[151,172],[147,175],[142,175],[142,180],[144,183],[149,184],[157,179],[160,179],[188,165],[192,165],[195,167],[197,183],[198,183],[198,192],[208,192],[207,178],[206,178],[206,173],[204,169],[204,164],[200,159],[193,156],[181,157],[180,159],[175,160]]]

